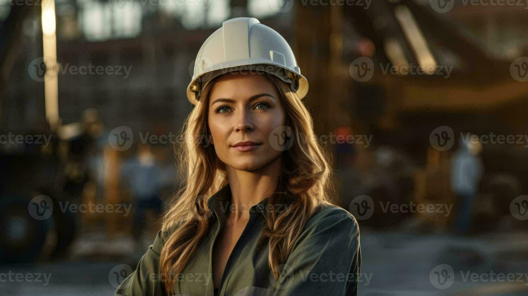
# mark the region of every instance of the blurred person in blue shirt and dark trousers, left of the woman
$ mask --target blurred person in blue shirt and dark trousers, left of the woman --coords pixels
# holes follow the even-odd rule
[[[162,188],[162,170],[157,165],[149,144],[140,143],[137,154],[128,160],[122,168],[122,179],[128,183],[130,195],[135,202],[135,216],[132,233],[136,241],[136,251],[143,252],[141,238],[145,226],[146,211],[154,210],[161,214],[163,201],[159,197]]]

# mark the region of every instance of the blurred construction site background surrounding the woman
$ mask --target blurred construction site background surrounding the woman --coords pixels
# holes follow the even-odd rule
[[[173,197],[182,180],[169,139],[193,107],[195,54],[240,16],[284,36],[309,80],[333,201],[360,225],[361,295],[528,293],[527,3],[119,1],[0,3],[0,273],[50,275],[0,279],[0,294],[114,293],[123,279],[112,272],[134,269],[160,227],[147,211],[135,243],[122,168],[148,153],[159,198]],[[119,73],[68,70],[108,65]],[[139,141],[116,149],[109,135],[123,126]],[[452,175],[466,145],[482,168],[464,209]],[[124,206],[37,219],[28,208],[43,196],[54,209]],[[435,280],[445,265],[447,288]]]

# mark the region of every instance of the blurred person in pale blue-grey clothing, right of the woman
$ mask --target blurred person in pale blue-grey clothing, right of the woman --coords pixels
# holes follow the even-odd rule
[[[467,233],[472,223],[472,207],[484,174],[484,164],[479,155],[481,150],[478,137],[467,133],[459,138],[458,149],[451,160],[451,190],[458,205],[457,234]]]

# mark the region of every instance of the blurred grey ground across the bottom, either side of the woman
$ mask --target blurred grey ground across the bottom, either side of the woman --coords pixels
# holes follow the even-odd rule
[[[152,243],[150,239],[144,239],[143,247]],[[16,275],[11,281],[0,277],[0,295],[113,295],[117,283],[112,278],[112,269],[119,264],[135,268],[142,255],[134,254],[130,238],[109,242],[103,236],[92,235],[79,238],[76,246],[77,254],[72,254],[69,260],[1,266],[3,273],[31,273],[35,277],[46,274],[49,282],[45,284],[42,276],[41,282],[17,282]],[[528,238],[522,233],[456,237],[363,229],[361,247],[364,274],[360,277],[360,295],[528,295],[528,274],[515,282],[491,281],[480,276],[490,272],[528,273]],[[436,279],[433,269],[441,264],[453,270],[449,275],[454,281],[447,289],[433,285]],[[464,280],[466,274],[477,274],[483,280]]]

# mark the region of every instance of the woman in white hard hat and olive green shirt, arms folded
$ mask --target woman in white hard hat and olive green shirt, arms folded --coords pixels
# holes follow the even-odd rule
[[[284,38],[256,18],[202,45],[179,152],[186,184],[122,295],[357,295],[354,217],[329,202],[331,168]]]

